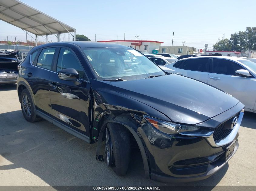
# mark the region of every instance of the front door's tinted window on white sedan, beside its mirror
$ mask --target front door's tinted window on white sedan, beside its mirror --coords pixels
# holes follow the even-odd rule
[[[212,73],[236,75],[235,71],[244,69],[235,62],[225,59],[212,59]]]

